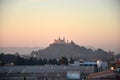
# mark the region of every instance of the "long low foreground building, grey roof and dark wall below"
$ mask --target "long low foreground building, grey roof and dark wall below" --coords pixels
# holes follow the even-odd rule
[[[0,80],[82,80],[94,66],[3,66]]]

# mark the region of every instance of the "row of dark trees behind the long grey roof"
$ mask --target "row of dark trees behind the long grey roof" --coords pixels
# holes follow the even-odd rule
[[[68,65],[73,64],[74,59],[71,57],[68,59],[67,57],[61,57],[60,59],[38,59],[36,57],[30,57],[25,59],[21,57],[19,54],[0,54],[0,66],[4,65]]]

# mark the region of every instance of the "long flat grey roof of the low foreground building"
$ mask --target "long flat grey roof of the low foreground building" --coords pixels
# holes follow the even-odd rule
[[[3,66],[0,73],[63,73],[67,71],[80,71],[93,73],[93,66]]]

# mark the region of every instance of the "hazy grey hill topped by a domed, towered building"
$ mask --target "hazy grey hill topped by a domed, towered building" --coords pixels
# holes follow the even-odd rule
[[[55,40],[53,44],[50,44],[47,48],[38,51],[32,51],[32,56],[36,55],[38,58],[60,58],[73,57],[78,59],[102,59],[107,60],[110,58],[110,54],[103,49],[87,49],[84,46],[79,46],[73,41],[70,43],[65,42],[64,39]]]

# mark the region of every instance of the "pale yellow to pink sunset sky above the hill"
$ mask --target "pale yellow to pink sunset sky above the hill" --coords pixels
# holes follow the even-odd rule
[[[0,47],[47,47],[65,37],[120,53],[119,0],[0,0]]]

